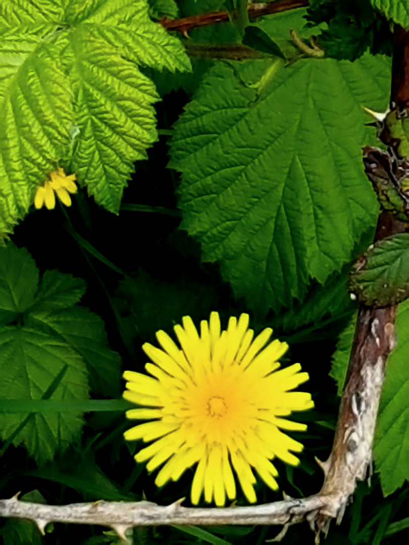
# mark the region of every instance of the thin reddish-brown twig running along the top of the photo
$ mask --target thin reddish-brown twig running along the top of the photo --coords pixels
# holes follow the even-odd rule
[[[249,4],[248,13],[250,19],[256,19],[262,15],[280,13],[295,8],[305,8],[309,4],[308,0],[279,0],[278,2],[260,2]],[[235,12],[233,11],[233,17]],[[186,35],[192,28],[215,25],[216,23],[225,23],[230,21],[231,15],[227,10],[217,11],[215,13],[203,13],[200,15],[191,15],[182,19],[167,19],[162,17],[160,23],[168,31],[177,31]]]

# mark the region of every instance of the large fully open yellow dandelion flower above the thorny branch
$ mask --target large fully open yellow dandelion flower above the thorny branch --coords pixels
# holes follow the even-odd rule
[[[182,349],[164,331],[157,332],[161,349],[143,344],[153,362],[145,367],[151,377],[125,371],[123,396],[141,405],[128,410],[127,417],[151,422],[128,429],[124,437],[153,441],[135,460],[148,461],[148,471],[165,464],[155,480],[158,487],[177,481],[197,463],[193,504],[202,493],[217,506],[225,504],[226,496],[236,498],[233,470],[248,501],[255,502],[253,469],[277,489],[271,460],[299,463],[292,452],[302,451],[303,445],[281,429],[306,429],[283,416],[314,406],[309,393],[290,391],[308,374],[300,372],[299,364],[278,371],[288,345],[278,340],[267,344],[270,328],[253,340],[248,314],[231,317],[227,330],[220,331],[219,314],[212,312],[209,322],[202,320],[200,335],[190,316],[182,321],[183,326],[175,326]]]

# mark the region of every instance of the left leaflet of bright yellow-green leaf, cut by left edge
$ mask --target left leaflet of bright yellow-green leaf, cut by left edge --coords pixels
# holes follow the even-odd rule
[[[68,152],[67,75],[43,35],[0,37],[0,235],[11,233],[36,187]]]

